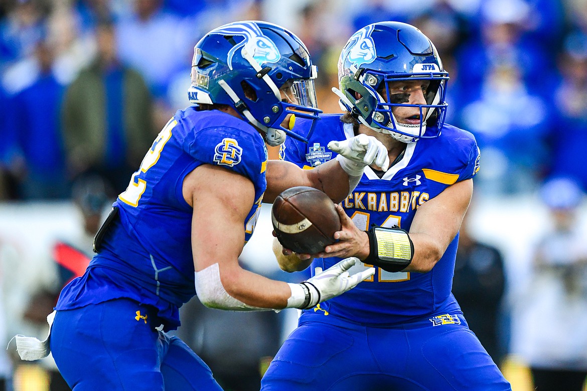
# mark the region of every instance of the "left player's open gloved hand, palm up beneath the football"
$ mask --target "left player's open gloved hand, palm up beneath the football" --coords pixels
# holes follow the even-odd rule
[[[359,259],[350,257],[343,259],[338,264],[319,271],[317,268],[316,275],[304,282],[308,286],[311,299],[306,308],[312,308],[318,303],[332,299],[335,296],[355,288],[359,282],[375,274],[375,268],[368,268],[363,271],[349,275],[348,270],[352,268]]]

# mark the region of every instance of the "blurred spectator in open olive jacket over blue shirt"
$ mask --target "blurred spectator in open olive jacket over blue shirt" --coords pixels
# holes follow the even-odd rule
[[[113,25],[96,32],[95,62],[80,72],[63,102],[63,131],[73,176],[97,173],[117,194],[153,141],[151,95],[143,77],[117,58]]]

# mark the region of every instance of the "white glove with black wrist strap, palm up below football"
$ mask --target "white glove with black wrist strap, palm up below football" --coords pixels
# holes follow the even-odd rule
[[[301,282],[301,284],[288,284],[292,290],[292,295],[288,299],[286,308],[312,308],[318,303],[355,288],[359,282],[375,274],[375,268],[368,268],[349,275],[348,270],[358,260],[355,257],[343,259],[338,264]]]

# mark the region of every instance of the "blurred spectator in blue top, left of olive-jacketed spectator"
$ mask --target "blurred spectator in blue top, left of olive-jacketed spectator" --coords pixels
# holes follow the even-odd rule
[[[19,198],[35,200],[69,195],[60,109],[63,86],[52,71],[54,51],[48,41],[35,47],[38,77],[14,96],[9,121],[16,136],[11,170],[18,181]]]

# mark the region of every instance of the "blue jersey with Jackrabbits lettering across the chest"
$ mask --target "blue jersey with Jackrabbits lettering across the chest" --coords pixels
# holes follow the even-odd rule
[[[295,130],[305,134],[308,125],[299,120]],[[303,168],[317,167],[336,156],[328,149],[329,141],[353,136],[352,124],[343,123],[340,114],[323,114],[309,143],[289,137],[281,147],[280,157]],[[471,133],[445,124],[440,137],[407,144],[403,157],[382,177],[366,167],[359,184],[342,206],[361,230],[381,225],[409,232],[417,208],[451,184],[472,178],[479,169],[479,157]],[[309,311],[325,311],[375,326],[399,325],[433,314],[460,313],[451,294],[457,243],[458,235],[430,272],[392,273],[377,268],[372,278]],[[314,268],[326,269],[339,260],[315,259],[312,274]],[[361,263],[351,272],[365,267]]]

